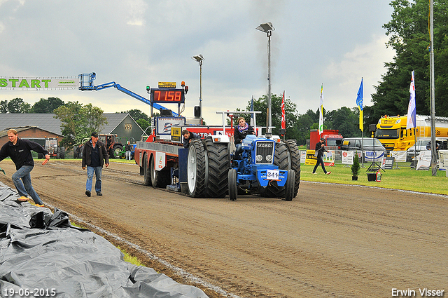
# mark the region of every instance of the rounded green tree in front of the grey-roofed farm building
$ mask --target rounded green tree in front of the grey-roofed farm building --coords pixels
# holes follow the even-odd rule
[[[83,106],[79,102],[67,102],[54,111],[55,118],[62,122],[62,144],[71,148],[90,137],[92,131],[100,131],[107,124],[103,110],[92,104]]]

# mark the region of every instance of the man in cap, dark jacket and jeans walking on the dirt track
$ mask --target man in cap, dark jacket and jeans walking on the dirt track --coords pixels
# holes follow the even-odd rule
[[[104,163],[106,161],[106,163]],[[91,196],[93,174],[97,177],[95,182],[95,191],[97,196],[102,196],[101,192],[101,177],[102,168],[106,164],[109,167],[109,155],[106,147],[102,142],[98,141],[98,134],[92,133],[91,138],[84,144],[83,149],[83,170],[87,165],[87,182],[85,183],[85,195]]]

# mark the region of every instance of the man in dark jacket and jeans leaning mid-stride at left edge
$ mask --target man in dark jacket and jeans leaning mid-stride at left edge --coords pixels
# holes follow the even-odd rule
[[[39,198],[31,185],[31,175],[29,173],[34,168],[34,160],[33,156],[31,156],[31,150],[45,154],[45,161],[43,161],[42,165],[45,165],[45,163],[50,160],[48,151],[36,142],[19,139],[17,130],[15,129],[8,130],[8,139],[9,142],[4,144],[0,149],[0,161],[3,161],[3,159],[10,156],[11,160],[15,163],[15,170],[17,170],[17,172],[13,174],[13,182],[20,194],[18,201],[28,201],[29,195],[36,206],[43,207],[41,198]]]

